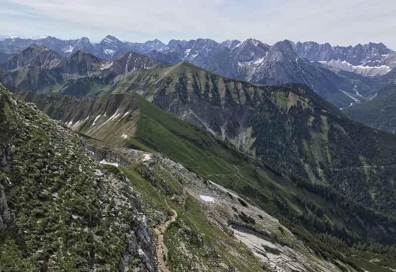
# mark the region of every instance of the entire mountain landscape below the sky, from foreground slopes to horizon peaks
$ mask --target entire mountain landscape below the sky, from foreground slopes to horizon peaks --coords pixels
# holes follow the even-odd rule
[[[85,39],[0,41],[6,271],[396,266],[392,50]]]

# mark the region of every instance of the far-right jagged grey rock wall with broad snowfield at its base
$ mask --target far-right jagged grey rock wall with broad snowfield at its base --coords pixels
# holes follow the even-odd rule
[[[298,42],[297,54],[310,61],[321,61],[334,68],[363,76],[384,75],[396,66],[396,54],[384,44],[331,46],[315,42]]]

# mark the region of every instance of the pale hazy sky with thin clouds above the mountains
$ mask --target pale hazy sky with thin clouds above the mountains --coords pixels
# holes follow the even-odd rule
[[[382,42],[396,49],[396,0],[0,0],[0,17],[0,35]]]

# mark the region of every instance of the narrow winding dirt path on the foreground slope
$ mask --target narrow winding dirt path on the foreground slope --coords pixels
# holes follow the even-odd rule
[[[177,212],[173,210],[171,207],[169,207],[168,202],[166,202],[166,198],[165,198],[165,204],[173,212],[173,215],[164,224],[161,224],[154,229],[155,234],[157,234],[158,236],[156,253],[158,260],[158,268],[161,272],[169,272],[169,269],[166,267],[166,260],[168,259],[168,249],[166,248],[166,245],[164,243],[164,233],[168,228],[169,224],[175,222],[177,219]]]

